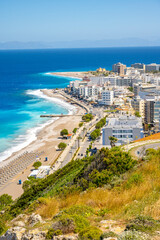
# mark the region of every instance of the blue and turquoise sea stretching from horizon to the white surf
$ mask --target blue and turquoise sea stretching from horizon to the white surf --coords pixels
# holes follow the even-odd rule
[[[64,88],[71,80],[47,72],[111,69],[119,61],[160,63],[160,47],[0,51],[0,160],[36,138],[47,124],[41,114],[71,110],[39,91]]]

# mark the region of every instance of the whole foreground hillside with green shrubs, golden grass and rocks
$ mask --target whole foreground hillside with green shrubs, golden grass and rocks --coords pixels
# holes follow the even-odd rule
[[[25,182],[17,201],[0,205],[0,232],[13,234],[18,226],[18,239],[26,240],[160,239],[159,178],[160,150],[136,161],[118,147],[102,148],[46,179]]]

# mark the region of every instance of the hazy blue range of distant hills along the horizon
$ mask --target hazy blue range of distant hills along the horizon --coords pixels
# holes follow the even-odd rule
[[[142,47],[160,46],[160,39],[145,40],[140,38],[104,39],[104,40],[75,40],[53,42],[0,42],[0,49],[49,49],[49,48],[96,48],[96,47]]]

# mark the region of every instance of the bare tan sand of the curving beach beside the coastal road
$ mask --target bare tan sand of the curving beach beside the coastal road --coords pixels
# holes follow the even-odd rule
[[[69,102],[65,97],[60,95],[58,92],[54,92],[53,90],[42,90],[44,94],[49,97],[59,98],[64,100],[65,102]],[[57,151],[57,146],[59,142],[69,143],[70,140],[62,140],[60,137],[60,131],[64,128],[68,129],[69,133],[72,133],[75,127],[78,127],[79,122],[81,121],[81,116],[77,116],[84,113],[84,109],[79,106],[76,107],[76,114],[72,116],[66,116],[59,119],[55,119],[54,122],[44,127],[38,134],[37,140],[29,144],[27,147],[21,149],[20,151],[13,153],[11,157],[7,160],[4,160],[0,163],[0,168],[7,162],[12,162],[24,152],[28,153],[38,153],[41,152],[41,162],[42,165],[51,165],[54,163],[60,151]],[[48,161],[45,162],[45,157],[48,158]],[[36,160],[36,159],[35,159]],[[0,195],[7,193],[10,194],[13,199],[19,197],[23,193],[22,185],[18,185],[18,180],[21,179],[22,182],[27,179],[27,176],[30,174],[33,163],[25,167],[25,169],[21,170],[17,173],[13,179],[6,182],[3,186],[0,187]]]

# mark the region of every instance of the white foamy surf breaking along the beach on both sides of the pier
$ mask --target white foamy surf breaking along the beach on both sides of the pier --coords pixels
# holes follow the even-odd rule
[[[46,99],[47,101],[53,102],[56,105],[62,106],[68,111],[69,115],[72,115],[76,111],[76,107],[72,106],[71,104],[58,99],[58,98],[52,98],[47,95],[45,95],[40,89],[38,90],[27,90],[26,93],[28,95],[34,95],[38,98]],[[0,155],[0,162],[9,158],[12,153],[17,152],[24,147],[27,147],[30,143],[35,141],[37,139],[37,134],[47,125],[53,123],[57,118],[52,118],[50,120],[46,120],[44,123],[38,124],[36,127],[32,127],[28,129],[24,134],[19,135],[17,138],[15,138],[12,142],[12,147],[8,148],[7,150],[3,151]]]

